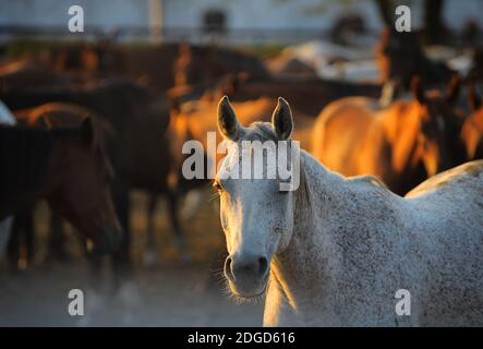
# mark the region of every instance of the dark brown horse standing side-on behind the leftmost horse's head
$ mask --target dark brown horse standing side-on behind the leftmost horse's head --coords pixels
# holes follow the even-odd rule
[[[123,260],[129,260],[130,189],[145,190],[153,197],[166,195],[177,240],[183,241],[178,219],[178,197],[168,182],[172,160],[166,137],[170,107],[168,98],[128,80],[107,80],[88,86],[62,88],[22,88],[5,91],[1,96],[14,110],[51,101],[76,104],[112,124],[119,155],[112,156],[117,172],[113,194],[119,218],[128,234],[122,246]]]

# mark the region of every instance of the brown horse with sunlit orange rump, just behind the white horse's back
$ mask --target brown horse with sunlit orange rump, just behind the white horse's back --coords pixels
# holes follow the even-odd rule
[[[455,165],[461,119],[454,111],[458,88],[424,93],[382,108],[374,99],[343,98],[327,106],[313,132],[313,154],[345,176],[378,176],[395,193],[406,194],[430,176]]]

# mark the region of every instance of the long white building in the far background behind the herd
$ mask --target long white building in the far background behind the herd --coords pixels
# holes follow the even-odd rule
[[[410,4],[418,26],[421,2]],[[68,9],[84,9],[85,34],[125,29],[146,35],[150,31],[165,39],[200,40],[208,28],[220,29],[237,41],[293,41],[313,37],[328,28],[342,14],[357,13],[374,31],[382,27],[373,0],[2,0],[0,27],[55,29],[69,34]],[[455,28],[472,19],[483,24],[483,1],[446,0],[445,19]],[[12,28],[10,28],[12,29]],[[75,34],[79,36],[79,34]]]

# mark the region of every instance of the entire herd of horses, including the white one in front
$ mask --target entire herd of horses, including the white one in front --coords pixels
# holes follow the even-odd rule
[[[182,176],[182,144],[205,144],[208,131],[234,145],[297,140],[294,192],[274,190],[277,179],[215,179],[233,294],[266,292],[265,325],[483,324],[478,81],[433,62],[413,34],[381,40],[383,80],[395,86],[384,101],[383,84],[277,76],[230,49],[131,55],[104,44],[65,55],[0,68],[2,115],[17,123],[0,129],[0,219],[46,198],[128,265],[129,191],[141,189],[150,216],[167,197],[188,253],[178,204],[207,181]],[[220,171],[238,161],[232,149]],[[13,234],[28,230],[17,220]],[[411,292],[411,316],[395,313],[398,289]]]

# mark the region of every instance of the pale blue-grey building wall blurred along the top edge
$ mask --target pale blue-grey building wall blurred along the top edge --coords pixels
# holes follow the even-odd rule
[[[80,4],[84,8],[86,29],[89,26],[104,31],[117,27],[147,29],[149,19],[154,17],[149,14],[149,1],[161,3],[166,32],[169,28],[194,32],[202,27],[203,15],[212,9],[226,13],[230,31],[258,29],[258,34],[251,35],[261,37],[276,35],[279,29],[319,31],[329,27],[338,15],[349,12],[365,16],[373,29],[382,26],[373,0],[0,0],[0,25],[55,26],[67,31],[68,9]],[[421,1],[401,2],[411,5],[413,24],[418,26]],[[445,17],[451,27],[462,27],[467,19],[483,26],[483,1],[446,0],[445,3]]]

